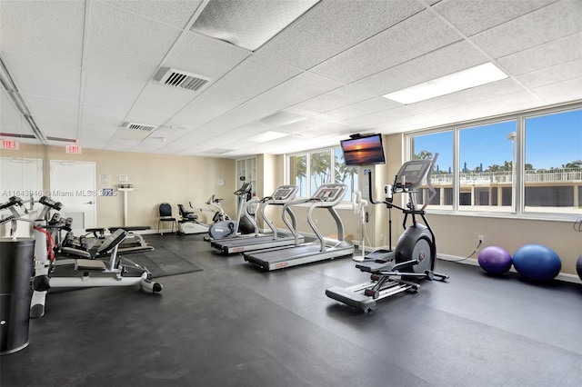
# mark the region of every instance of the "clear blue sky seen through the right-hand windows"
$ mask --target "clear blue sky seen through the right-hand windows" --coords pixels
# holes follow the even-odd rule
[[[512,141],[507,135],[517,131],[517,122],[489,124],[459,132],[460,166],[474,170],[493,164],[503,165],[513,159]],[[415,137],[415,153],[426,150],[439,153],[441,171],[453,167],[453,134],[427,134]],[[526,164],[535,169],[560,168],[582,159],[582,110],[531,117],[526,120]]]

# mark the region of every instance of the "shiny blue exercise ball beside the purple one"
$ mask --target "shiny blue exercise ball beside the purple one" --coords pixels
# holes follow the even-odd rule
[[[528,280],[550,281],[562,269],[562,262],[552,249],[542,244],[525,244],[513,254],[517,273]]]

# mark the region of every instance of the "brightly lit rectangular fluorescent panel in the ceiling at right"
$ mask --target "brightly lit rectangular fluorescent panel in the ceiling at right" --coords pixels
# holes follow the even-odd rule
[[[507,78],[507,74],[499,70],[496,65],[488,62],[382,96],[400,104],[414,104],[437,96],[457,93],[482,84],[490,84],[505,78]]]

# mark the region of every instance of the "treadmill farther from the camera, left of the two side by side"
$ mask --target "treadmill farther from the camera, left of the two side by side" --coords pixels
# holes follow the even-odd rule
[[[271,196],[267,196],[261,200],[261,217],[268,224],[271,233],[256,233],[255,235],[248,235],[246,237],[216,240],[211,243],[211,246],[221,253],[231,254],[293,245],[295,243],[295,235],[286,231],[277,230],[275,224],[266,216],[265,211],[269,205],[283,206],[289,203],[295,198],[297,191],[299,191],[299,187],[296,185],[281,185]],[[282,216],[285,217],[286,213],[291,218],[293,228],[296,229],[295,213],[289,207],[286,207],[286,211],[282,213]],[[256,225],[254,220],[252,222]],[[303,235],[299,235],[299,243],[303,243],[304,241],[305,238]]]

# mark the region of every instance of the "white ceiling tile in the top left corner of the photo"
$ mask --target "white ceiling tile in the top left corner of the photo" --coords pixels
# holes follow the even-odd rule
[[[2,51],[81,66],[85,2],[0,1]]]

